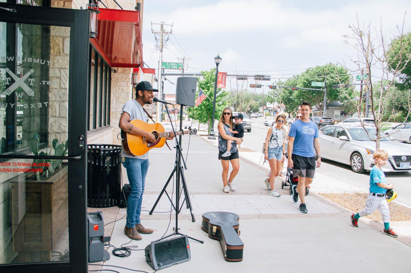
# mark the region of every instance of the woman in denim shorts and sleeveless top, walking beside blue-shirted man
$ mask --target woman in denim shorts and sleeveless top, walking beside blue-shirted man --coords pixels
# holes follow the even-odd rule
[[[280,194],[274,189],[275,177],[279,175],[281,162],[285,159],[285,141],[286,134],[284,133],[283,125],[286,121],[285,116],[278,115],[275,118],[275,127],[268,129],[266,136],[265,159],[270,164],[271,175],[268,180],[265,180],[266,187],[270,191],[270,196],[279,197]]]

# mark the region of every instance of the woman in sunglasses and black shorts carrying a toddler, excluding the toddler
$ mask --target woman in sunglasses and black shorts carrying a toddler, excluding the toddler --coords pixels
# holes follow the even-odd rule
[[[233,180],[236,177],[238,170],[240,169],[240,159],[238,159],[238,149],[237,144],[242,142],[241,139],[236,138],[233,136],[233,133],[229,131],[234,129],[233,119],[233,112],[229,107],[224,108],[223,112],[221,113],[220,120],[218,121],[218,159],[221,160],[221,165],[223,167],[223,191],[225,193],[231,191],[235,191],[236,188],[234,187]],[[227,151],[227,141],[236,141],[236,143],[232,143],[231,145],[231,155],[228,157],[222,157],[221,155]],[[231,166],[233,167],[233,171],[230,173],[230,177],[227,180],[229,174],[229,167],[231,162]]]

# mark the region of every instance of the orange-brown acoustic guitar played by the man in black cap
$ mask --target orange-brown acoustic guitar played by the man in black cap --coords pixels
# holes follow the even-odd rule
[[[139,119],[133,119],[130,123],[134,125],[134,127],[151,133],[155,137],[155,141],[149,142],[143,136],[136,136],[135,134],[129,134],[121,130],[123,148],[129,155],[144,155],[152,148],[161,148],[164,146],[164,143],[166,143],[166,137],[170,136],[169,132],[164,132],[164,127],[160,123],[148,124]],[[197,129],[189,127],[189,130],[176,131],[175,134],[177,136],[180,134],[197,134]]]

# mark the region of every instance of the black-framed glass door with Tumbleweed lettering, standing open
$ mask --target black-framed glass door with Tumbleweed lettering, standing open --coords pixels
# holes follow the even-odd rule
[[[87,268],[87,54],[87,11],[0,4],[0,271]]]

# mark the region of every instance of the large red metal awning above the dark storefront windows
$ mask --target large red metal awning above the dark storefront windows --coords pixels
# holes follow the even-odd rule
[[[143,67],[140,11],[100,8],[97,37],[90,39],[111,67]]]

